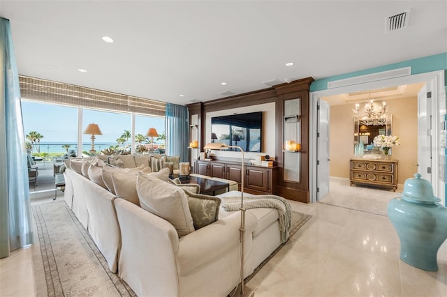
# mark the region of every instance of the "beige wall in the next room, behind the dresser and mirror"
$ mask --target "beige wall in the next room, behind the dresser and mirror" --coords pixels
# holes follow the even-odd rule
[[[391,158],[399,161],[398,183],[413,177],[418,162],[418,98],[387,101],[393,114],[392,134],[400,137]],[[353,157],[353,105],[330,107],[330,176],[349,178],[349,159]]]

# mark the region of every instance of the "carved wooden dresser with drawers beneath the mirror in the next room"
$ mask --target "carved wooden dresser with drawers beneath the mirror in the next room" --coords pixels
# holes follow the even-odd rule
[[[397,189],[397,160],[352,158],[349,182]]]

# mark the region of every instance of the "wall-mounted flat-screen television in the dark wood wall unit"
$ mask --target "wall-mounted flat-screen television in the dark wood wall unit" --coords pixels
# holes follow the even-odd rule
[[[244,151],[262,151],[263,112],[230,114],[211,118],[212,142],[240,146]],[[237,148],[233,148],[237,151]]]

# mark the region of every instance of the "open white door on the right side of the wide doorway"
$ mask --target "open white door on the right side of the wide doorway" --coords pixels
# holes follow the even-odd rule
[[[431,106],[427,98],[430,84],[425,84],[418,92],[418,174],[432,182],[432,127]]]

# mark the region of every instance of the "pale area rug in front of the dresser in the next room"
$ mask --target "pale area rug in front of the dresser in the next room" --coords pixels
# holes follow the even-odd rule
[[[331,178],[330,192],[319,203],[349,208],[354,211],[387,215],[388,202],[400,197],[399,192],[367,185],[349,185],[345,178]]]

